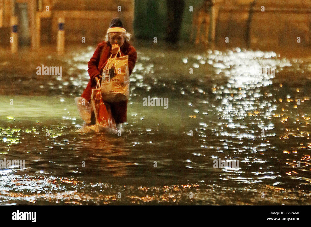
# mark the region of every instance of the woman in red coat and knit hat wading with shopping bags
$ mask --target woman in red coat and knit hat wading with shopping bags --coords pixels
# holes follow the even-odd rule
[[[98,44],[91,60],[88,63],[89,69],[87,71],[90,76],[90,81],[81,95],[81,97],[85,98],[86,101],[90,102],[92,89],[96,88],[97,82],[95,78],[100,78],[108,58],[111,54],[117,54],[119,47],[121,56],[128,55],[128,71],[131,75],[137,60],[137,53],[135,48],[128,43],[130,36],[131,35],[123,28],[120,18],[114,18],[111,21],[105,40]],[[110,106],[117,128],[121,129],[122,123],[127,120],[128,100],[116,103],[105,102],[105,105]],[[91,114],[91,124],[95,124],[94,113]]]

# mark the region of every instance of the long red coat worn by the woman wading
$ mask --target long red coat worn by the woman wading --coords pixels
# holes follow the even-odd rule
[[[132,70],[135,66],[137,60],[137,52],[135,48],[129,44],[127,41],[124,41],[123,46],[120,48],[121,55],[128,55],[128,71],[131,75]],[[88,63],[90,81],[86,86],[86,89],[83,91],[81,97],[85,98],[88,102],[91,100],[92,89],[96,88],[96,82],[94,78],[102,74],[105,63],[111,55],[111,45],[106,43],[106,41],[101,42],[97,45],[97,48]],[[110,104],[112,114],[116,120],[116,123],[123,123],[126,121],[127,115],[127,104],[128,101],[123,101],[119,103],[105,103]]]

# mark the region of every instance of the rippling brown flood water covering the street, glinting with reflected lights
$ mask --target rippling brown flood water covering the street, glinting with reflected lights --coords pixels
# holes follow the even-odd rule
[[[25,168],[0,170],[0,204],[311,205],[311,60],[137,45],[118,136],[76,132],[74,98],[94,50],[2,56],[0,159]],[[62,66],[62,77],[36,75],[42,64]],[[148,95],[168,108],[143,106]],[[239,168],[214,168],[219,158]]]

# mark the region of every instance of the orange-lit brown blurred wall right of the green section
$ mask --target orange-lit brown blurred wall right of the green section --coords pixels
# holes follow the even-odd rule
[[[258,46],[310,45],[309,0],[216,2],[216,42],[224,42],[225,37],[230,37]],[[297,43],[297,37],[301,43]]]

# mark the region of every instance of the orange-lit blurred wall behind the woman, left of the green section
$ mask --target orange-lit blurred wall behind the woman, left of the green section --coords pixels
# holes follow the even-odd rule
[[[0,0],[0,39],[8,43],[11,17],[18,17],[22,45],[36,48],[57,39],[58,18],[64,18],[66,42],[87,43],[103,40],[110,21],[120,17],[133,32],[134,0]],[[4,35],[5,34],[5,35]]]

